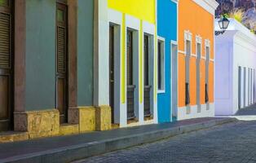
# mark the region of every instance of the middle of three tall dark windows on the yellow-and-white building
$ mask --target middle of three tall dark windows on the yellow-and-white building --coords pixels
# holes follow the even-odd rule
[[[135,118],[135,85],[133,81],[133,32],[127,30],[126,73],[127,73],[127,119]]]

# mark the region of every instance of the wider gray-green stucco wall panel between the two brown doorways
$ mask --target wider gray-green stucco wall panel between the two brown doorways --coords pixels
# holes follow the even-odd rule
[[[25,108],[55,108],[55,0],[26,2]]]

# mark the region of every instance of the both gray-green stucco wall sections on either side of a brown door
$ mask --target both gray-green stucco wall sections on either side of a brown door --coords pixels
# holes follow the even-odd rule
[[[94,1],[77,0],[77,105],[93,105]],[[55,108],[55,0],[26,2],[25,108]]]

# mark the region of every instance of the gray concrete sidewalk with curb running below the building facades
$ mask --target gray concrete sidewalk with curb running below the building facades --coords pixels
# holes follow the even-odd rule
[[[237,121],[236,118],[208,117],[175,123],[1,143],[0,162],[70,162],[234,121]]]

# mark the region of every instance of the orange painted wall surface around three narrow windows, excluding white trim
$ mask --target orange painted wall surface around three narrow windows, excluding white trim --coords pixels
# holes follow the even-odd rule
[[[196,35],[202,37],[201,52],[205,56],[205,39],[210,40],[210,59],[214,59],[214,15],[192,0],[179,0],[179,51],[184,50],[184,31],[192,33],[192,54],[196,54]],[[196,57],[190,59],[190,102],[196,105]],[[214,101],[214,64],[210,64],[210,102]],[[205,59],[201,59],[201,104],[205,104]],[[179,53],[179,107],[185,106],[185,57]]]

